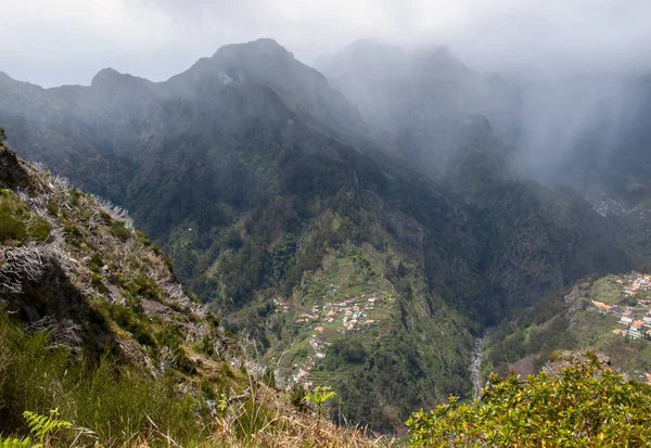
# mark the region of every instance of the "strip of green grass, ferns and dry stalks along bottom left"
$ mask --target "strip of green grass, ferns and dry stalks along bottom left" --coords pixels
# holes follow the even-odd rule
[[[159,336],[178,342],[166,333]],[[0,447],[385,446],[307,411],[293,415],[289,401],[252,377],[243,393],[224,387],[215,395],[205,382],[152,377],[111,355],[95,362],[47,332],[25,333],[4,310],[0,340]],[[206,400],[215,396],[210,411]],[[317,393],[314,402],[331,397]]]

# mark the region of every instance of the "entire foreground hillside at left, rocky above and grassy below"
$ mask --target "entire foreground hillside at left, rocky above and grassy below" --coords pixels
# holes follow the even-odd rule
[[[298,412],[124,210],[2,143],[0,187],[0,437],[58,409],[51,446],[381,445]]]

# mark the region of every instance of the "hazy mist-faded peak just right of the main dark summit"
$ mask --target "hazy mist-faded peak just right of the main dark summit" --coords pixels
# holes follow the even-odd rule
[[[366,39],[322,56],[318,67],[375,132],[395,141],[394,152],[430,176],[445,174],[468,136],[484,132],[484,117],[501,136],[502,117],[519,108],[516,86],[473,71],[445,47],[405,50]]]

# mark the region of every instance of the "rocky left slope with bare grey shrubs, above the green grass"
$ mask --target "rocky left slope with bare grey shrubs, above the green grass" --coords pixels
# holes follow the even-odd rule
[[[209,336],[220,344],[204,308],[123,209],[35,169],[8,148],[0,148],[0,185],[7,188],[0,195],[2,312],[50,331],[75,351],[92,358],[111,349],[155,375],[168,368],[178,373],[174,357],[183,359],[186,343]],[[162,328],[167,338],[157,335]],[[180,341],[170,345],[177,333]]]

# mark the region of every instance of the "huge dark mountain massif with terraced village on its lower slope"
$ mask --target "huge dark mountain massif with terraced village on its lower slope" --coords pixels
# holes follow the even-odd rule
[[[419,67],[474,79],[444,50]],[[520,172],[487,118],[421,107],[416,93],[395,110],[404,138],[383,135],[263,39],[164,82],[104,69],[89,87],[41,89],[3,76],[0,124],[21,155],[131,209],[277,384],[331,384],[335,421],[392,431],[470,395],[484,325],[640,260],[618,221]]]

